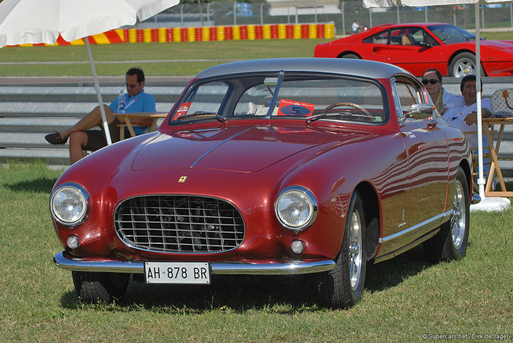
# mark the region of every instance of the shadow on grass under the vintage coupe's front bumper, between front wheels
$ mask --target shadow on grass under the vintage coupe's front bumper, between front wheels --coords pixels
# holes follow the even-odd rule
[[[115,301],[115,306],[180,314],[227,309],[242,313],[271,307],[273,313],[283,314],[319,310],[309,276],[212,275],[211,281],[211,285],[150,285],[130,280],[126,295]],[[82,308],[72,291],[63,294],[61,304],[68,309]]]

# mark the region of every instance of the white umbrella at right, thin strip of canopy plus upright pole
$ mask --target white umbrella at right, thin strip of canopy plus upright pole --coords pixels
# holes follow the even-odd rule
[[[476,18],[476,88],[480,89],[481,85],[481,52],[480,52],[480,31],[479,31],[479,5],[486,3],[512,3],[511,0],[363,0],[365,8],[372,7],[395,7],[395,6],[439,6],[439,5],[460,5],[475,4]],[[481,92],[477,92],[477,108],[478,108],[478,161],[479,161],[479,195],[482,199],[484,196],[485,179],[483,176],[483,131],[481,125]]]

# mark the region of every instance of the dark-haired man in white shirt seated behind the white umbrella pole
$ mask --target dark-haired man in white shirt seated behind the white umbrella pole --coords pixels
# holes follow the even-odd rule
[[[482,85],[482,84],[481,84]],[[442,118],[452,127],[459,129],[467,135],[471,149],[478,148],[477,136],[477,90],[476,75],[467,75],[461,80],[461,95],[463,95],[463,104],[457,104],[449,108],[442,115]],[[482,91],[481,86],[481,91]],[[490,99],[481,99],[481,115],[483,118],[489,118]],[[483,135],[483,147],[488,147],[488,140]]]

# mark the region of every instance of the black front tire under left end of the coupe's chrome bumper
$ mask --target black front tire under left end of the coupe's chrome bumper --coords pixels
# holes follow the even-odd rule
[[[120,299],[125,295],[130,274],[72,271],[76,295],[84,302]]]

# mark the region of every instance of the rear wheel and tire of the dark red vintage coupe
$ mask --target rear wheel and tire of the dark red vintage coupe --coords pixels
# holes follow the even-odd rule
[[[470,203],[467,179],[460,167],[456,175],[453,212],[440,232],[424,242],[424,252],[429,261],[459,260],[465,257],[468,245]]]

